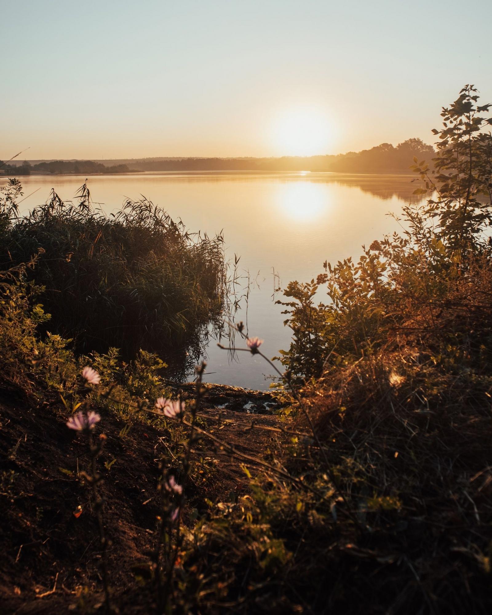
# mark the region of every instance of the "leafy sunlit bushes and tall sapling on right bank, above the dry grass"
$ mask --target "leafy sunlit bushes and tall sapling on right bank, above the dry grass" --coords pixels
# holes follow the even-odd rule
[[[430,191],[431,199],[403,208],[408,230],[363,247],[357,262],[325,263],[316,281],[288,285],[293,301],[279,303],[293,341],[280,360],[298,384],[408,344],[438,354],[459,339],[480,354],[490,336],[485,289],[492,266],[484,234],[492,221],[492,137],[480,130],[492,120],[477,115],[490,105],[475,108],[475,91],[466,86],[443,109],[434,170],[425,161],[412,167],[425,184],[415,192]],[[315,304],[324,284],[329,301]]]

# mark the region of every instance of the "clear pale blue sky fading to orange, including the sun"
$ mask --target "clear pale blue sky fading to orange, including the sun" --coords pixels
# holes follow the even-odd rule
[[[488,0],[0,0],[0,11],[0,159],[432,143],[464,84],[492,101]]]

